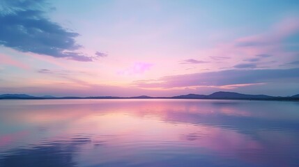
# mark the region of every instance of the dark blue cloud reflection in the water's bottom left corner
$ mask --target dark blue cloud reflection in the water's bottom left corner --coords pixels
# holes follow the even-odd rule
[[[55,141],[43,143],[32,148],[19,148],[10,150],[0,159],[1,166],[77,166],[75,154],[80,145],[90,140],[75,138],[72,141]]]

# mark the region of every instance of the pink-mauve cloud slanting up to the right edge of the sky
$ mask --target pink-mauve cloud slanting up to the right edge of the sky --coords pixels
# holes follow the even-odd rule
[[[210,58],[210,68],[214,70],[238,67],[252,58],[258,59],[247,68],[279,68],[279,65],[297,60],[298,52],[287,49],[288,45],[296,44],[286,42],[295,33],[299,33],[299,17],[286,17],[270,26],[268,31],[219,42],[214,47],[200,49],[197,54],[201,59]],[[257,56],[261,54],[270,56]]]

